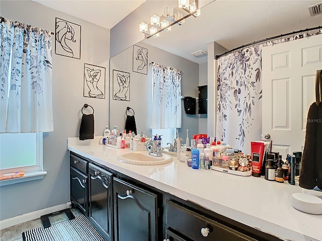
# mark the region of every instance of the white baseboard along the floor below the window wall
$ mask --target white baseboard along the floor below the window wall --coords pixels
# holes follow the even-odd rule
[[[45,209],[37,210],[34,212],[25,213],[19,216],[7,218],[0,221],[0,229],[4,229],[6,227],[11,227],[19,223],[27,222],[36,218],[40,218],[42,215],[46,215],[49,213],[57,212],[66,208],[70,208],[70,202],[59,204],[57,206],[48,207]]]

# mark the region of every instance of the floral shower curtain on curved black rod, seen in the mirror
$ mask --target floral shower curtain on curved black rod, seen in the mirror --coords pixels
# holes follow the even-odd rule
[[[242,49],[218,59],[217,139],[249,153],[262,135],[262,48],[317,34],[300,34]]]

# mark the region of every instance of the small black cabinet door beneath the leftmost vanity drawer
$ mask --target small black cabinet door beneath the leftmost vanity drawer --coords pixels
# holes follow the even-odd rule
[[[70,199],[85,215],[88,215],[88,177],[70,167]]]

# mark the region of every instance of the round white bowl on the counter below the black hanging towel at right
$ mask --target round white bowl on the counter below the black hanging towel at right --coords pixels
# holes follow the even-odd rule
[[[322,199],[306,193],[293,193],[292,206],[310,214],[322,214]]]

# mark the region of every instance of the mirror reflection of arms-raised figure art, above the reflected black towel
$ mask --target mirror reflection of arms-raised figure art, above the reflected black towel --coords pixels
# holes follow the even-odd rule
[[[113,99],[130,101],[130,73],[113,69]]]

